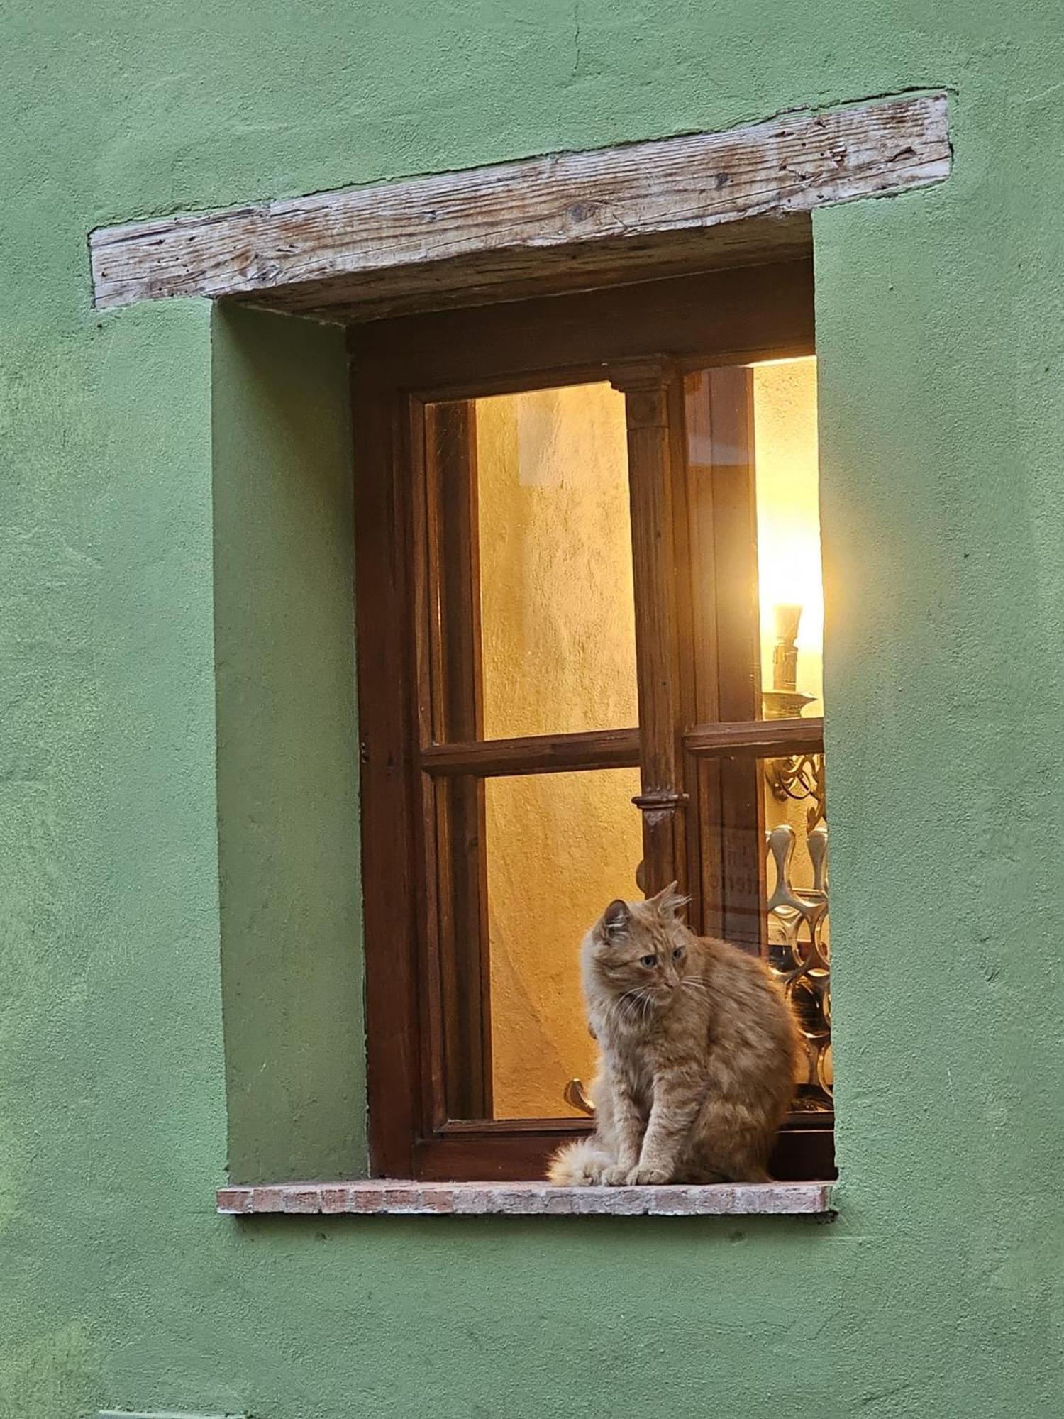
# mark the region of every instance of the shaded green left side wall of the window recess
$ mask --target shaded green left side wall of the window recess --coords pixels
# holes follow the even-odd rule
[[[234,1181],[365,1174],[353,534],[339,326],[211,326],[221,979]]]

